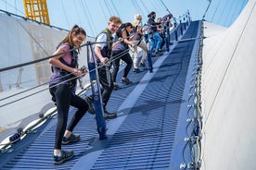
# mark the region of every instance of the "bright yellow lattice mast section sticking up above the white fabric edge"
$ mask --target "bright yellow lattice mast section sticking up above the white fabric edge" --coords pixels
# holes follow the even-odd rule
[[[26,18],[50,25],[46,0],[23,0]]]

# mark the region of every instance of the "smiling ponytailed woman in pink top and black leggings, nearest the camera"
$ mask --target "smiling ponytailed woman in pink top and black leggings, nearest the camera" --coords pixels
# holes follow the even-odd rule
[[[72,151],[61,150],[61,144],[80,140],[80,135],[72,133],[75,126],[88,110],[88,104],[75,94],[77,78],[84,76],[86,70],[78,68],[79,47],[86,38],[83,28],[74,25],[68,36],[58,44],[54,57],[49,59],[53,74],[49,81],[52,100],[57,105],[58,122],[55,135],[54,164],[62,164],[73,157]],[[58,55],[59,54],[59,55]],[[67,128],[70,105],[77,108]]]

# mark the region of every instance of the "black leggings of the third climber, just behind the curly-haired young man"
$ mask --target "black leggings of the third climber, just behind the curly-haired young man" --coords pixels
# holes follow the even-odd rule
[[[126,63],[126,67],[124,68],[124,72],[122,75],[122,78],[127,78],[128,73],[130,72],[132,66],[133,66],[133,60],[131,55],[127,52],[124,53],[123,51],[115,51],[113,52],[113,72],[112,72],[112,79],[114,82],[116,82],[117,74],[120,67],[120,59],[122,59]]]

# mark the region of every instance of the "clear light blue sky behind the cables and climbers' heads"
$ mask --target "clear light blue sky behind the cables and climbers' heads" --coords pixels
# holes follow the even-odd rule
[[[189,11],[192,20],[202,19],[211,5],[205,19],[212,23],[229,27],[237,18],[248,0],[48,0],[47,8],[50,24],[70,30],[78,24],[88,36],[95,37],[107,27],[110,16],[122,18],[122,22],[133,22],[134,15],[143,16],[155,11],[158,17],[171,12],[173,17],[184,18]],[[0,9],[25,16],[20,0],[0,0]]]

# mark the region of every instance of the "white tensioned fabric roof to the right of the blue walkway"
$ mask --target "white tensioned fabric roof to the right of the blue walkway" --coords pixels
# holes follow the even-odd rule
[[[217,28],[205,23],[202,169],[255,169],[255,9],[250,0],[236,22],[214,36]]]

